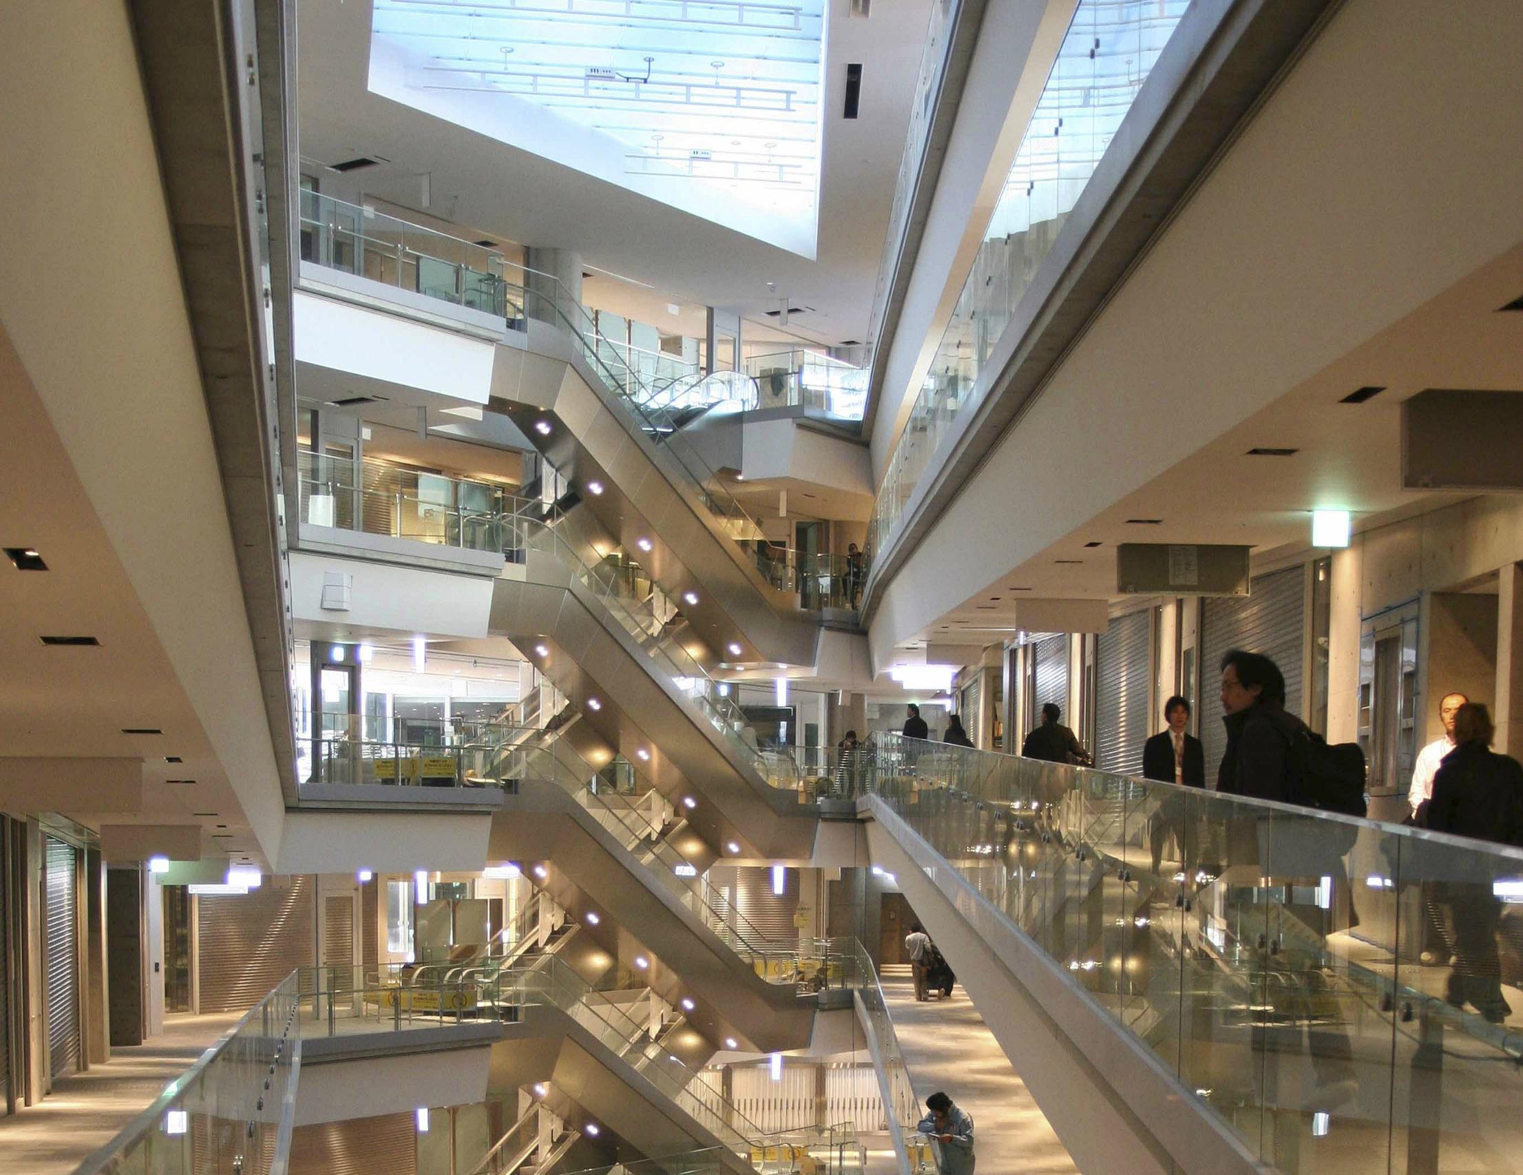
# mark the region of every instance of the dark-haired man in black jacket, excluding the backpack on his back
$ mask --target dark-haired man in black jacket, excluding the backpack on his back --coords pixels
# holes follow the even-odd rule
[[[1228,748],[1217,791],[1296,803],[1299,777],[1290,736],[1307,724],[1285,710],[1285,677],[1261,652],[1232,649],[1221,658],[1221,721]]]

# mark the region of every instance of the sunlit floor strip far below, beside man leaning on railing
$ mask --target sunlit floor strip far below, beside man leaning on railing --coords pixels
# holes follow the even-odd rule
[[[908,966],[883,968],[888,1001],[915,1096],[944,1090],[973,1116],[973,1154],[987,1175],[1077,1172],[1027,1085],[961,988],[915,1003]]]

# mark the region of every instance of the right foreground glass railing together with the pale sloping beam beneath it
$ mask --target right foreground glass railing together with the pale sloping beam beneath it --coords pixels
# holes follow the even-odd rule
[[[1084,1170],[1518,1154],[1473,1108],[1515,1097],[1523,1015],[1454,1007],[1415,956],[1435,896],[1506,911],[1523,853],[899,736],[868,757],[874,861]]]

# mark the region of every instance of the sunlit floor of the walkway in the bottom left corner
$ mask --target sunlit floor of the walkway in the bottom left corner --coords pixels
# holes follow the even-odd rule
[[[239,1013],[177,1015],[164,1030],[111,1059],[62,1077],[38,1105],[0,1117],[5,1175],[67,1175],[131,1122],[224,1032]]]

